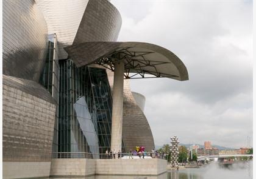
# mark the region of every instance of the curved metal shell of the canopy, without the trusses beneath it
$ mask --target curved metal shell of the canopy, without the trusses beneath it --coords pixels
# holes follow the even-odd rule
[[[146,42],[84,42],[65,47],[64,49],[68,52],[69,58],[72,58],[76,63],[77,67],[93,64],[104,57],[112,58],[110,56],[122,50],[127,52],[130,50],[130,52],[140,53],[139,55],[134,55],[133,58],[144,55],[147,61],[158,62],[158,64],[155,64],[158,65],[158,69],[154,67],[155,72],[151,71],[152,75],[180,81],[188,80],[188,71],[185,64],[174,53],[155,44]],[[143,57],[143,59],[145,58]],[[143,59],[136,60],[143,61]],[[148,69],[145,70],[146,73],[148,73]],[[143,71],[144,69],[140,70]],[[158,76],[158,74],[160,75]]]

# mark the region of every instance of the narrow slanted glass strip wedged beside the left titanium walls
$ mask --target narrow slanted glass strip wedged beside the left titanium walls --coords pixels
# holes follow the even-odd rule
[[[51,93],[57,107],[55,113],[54,139],[52,151],[58,151],[58,115],[59,115],[59,60],[58,60],[58,41],[55,34],[48,35],[48,53],[40,83]]]

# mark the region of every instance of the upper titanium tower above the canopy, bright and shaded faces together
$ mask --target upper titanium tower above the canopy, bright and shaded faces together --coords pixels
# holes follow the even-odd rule
[[[49,33],[56,33],[59,59],[68,58],[63,47],[87,41],[116,41],[121,15],[107,0],[35,0]]]

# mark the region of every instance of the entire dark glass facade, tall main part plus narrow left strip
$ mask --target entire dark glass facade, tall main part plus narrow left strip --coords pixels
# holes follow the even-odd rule
[[[77,68],[72,59],[59,61],[57,37],[49,35],[40,83],[57,104],[54,154],[74,152],[68,156],[98,158],[110,150],[112,96],[105,69]],[[124,144],[122,149],[125,152]],[[78,152],[84,154],[79,156]]]

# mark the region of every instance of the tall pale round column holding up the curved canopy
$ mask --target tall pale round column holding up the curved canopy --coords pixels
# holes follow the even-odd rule
[[[118,152],[122,149],[123,129],[123,92],[124,92],[124,62],[115,63],[112,106],[111,150]]]

